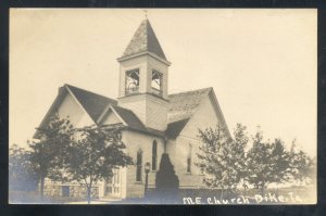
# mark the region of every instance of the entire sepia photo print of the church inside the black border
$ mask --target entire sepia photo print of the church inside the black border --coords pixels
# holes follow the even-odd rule
[[[10,9],[9,203],[317,203],[316,9]]]

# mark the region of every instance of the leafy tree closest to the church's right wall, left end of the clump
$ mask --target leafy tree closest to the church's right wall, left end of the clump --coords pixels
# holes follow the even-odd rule
[[[248,142],[246,127],[241,124],[235,129],[233,140],[226,129],[217,125],[213,130],[199,130],[201,145],[197,154],[199,163],[196,165],[204,173],[203,182],[210,188],[222,188],[233,192],[240,179],[244,177],[244,147]]]

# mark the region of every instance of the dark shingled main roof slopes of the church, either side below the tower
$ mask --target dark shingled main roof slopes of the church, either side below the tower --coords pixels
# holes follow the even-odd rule
[[[146,126],[136,116],[136,114],[127,109],[117,106],[117,101],[93,93],[71,85],[65,85],[76,97],[89,116],[97,122],[108,105],[111,105],[123,120],[131,129],[147,131]],[[168,125],[165,130],[168,137],[176,137],[185,127],[196,109],[201,103],[204,96],[211,92],[212,88],[197,89],[192,91],[184,91],[168,96]]]

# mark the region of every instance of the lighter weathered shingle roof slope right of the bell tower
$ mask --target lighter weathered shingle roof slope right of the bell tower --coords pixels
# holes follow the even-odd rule
[[[212,87],[197,89],[193,91],[184,91],[180,93],[168,94],[168,123],[189,118],[201,103],[204,96],[212,91]]]

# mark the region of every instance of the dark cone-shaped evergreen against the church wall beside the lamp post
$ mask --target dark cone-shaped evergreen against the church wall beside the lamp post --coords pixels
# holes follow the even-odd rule
[[[179,178],[166,153],[162,154],[160,169],[155,178],[155,194],[161,202],[171,203],[178,196]]]

